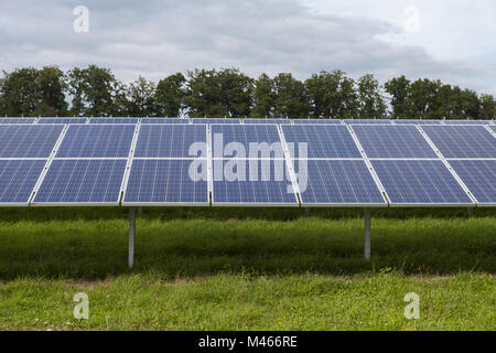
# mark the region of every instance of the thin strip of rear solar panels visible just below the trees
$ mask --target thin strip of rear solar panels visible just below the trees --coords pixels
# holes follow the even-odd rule
[[[496,125],[496,120],[420,119],[216,119],[216,118],[0,118],[0,124],[378,124],[378,125]]]

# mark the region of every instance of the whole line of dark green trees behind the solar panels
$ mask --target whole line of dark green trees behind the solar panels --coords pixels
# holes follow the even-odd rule
[[[443,84],[342,71],[305,81],[290,73],[249,77],[238,68],[194,69],[158,83],[123,84],[109,68],[89,65],[18,68],[0,78],[0,116],[256,117],[335,119],[494,119],[492,95]]]

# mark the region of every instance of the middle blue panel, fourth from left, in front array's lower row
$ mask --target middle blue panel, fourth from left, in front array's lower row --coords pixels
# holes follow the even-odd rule
[[[213,205],[298,205],[284,160],[214,161]]]

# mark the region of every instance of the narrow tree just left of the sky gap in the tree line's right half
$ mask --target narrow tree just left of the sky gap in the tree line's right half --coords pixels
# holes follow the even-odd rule
[[[358,118],[386,118],[386,103],[380,92],[379,82],[370,74],[358,79]]]

